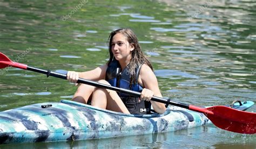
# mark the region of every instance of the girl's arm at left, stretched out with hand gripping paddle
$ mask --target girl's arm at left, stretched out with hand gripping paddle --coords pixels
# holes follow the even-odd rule
[[[67,79],[69,82],[76,83],[78,78],[88,79],[88,80],[101,80],[105,79],[107,65],[102,65],[96,69],[85,71],[85,72],[75,72],[68,71]]]

